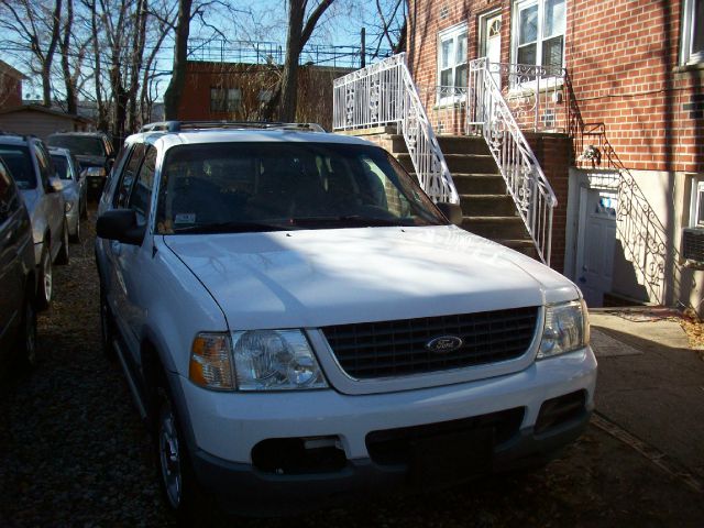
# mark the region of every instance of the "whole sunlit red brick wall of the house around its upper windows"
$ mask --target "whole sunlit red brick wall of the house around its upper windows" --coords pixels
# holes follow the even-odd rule
[[[682,0],[566,1],[565,66],[582,122],[603,123],[624,167],[704,172],[704,69],[678,66]],[[447,28],[465,21],[470,59],[476,57],[479,16],[497,6],[502,61],[510,62],[510,0],[409,3],[408,64],[417,84],[438,82],[438,33]]]

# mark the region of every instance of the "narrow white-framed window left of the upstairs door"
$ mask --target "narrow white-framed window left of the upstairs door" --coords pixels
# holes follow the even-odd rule
[[[453,102],[468,89],[466,25],[438,35],[438,102]]]

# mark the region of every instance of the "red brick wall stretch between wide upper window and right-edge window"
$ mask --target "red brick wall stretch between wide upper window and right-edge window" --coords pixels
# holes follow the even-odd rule
[[[681,10],[680,0],[569,1],[582,120],[604,123],[627,168],[704,172],[704,72],[678,72]]]

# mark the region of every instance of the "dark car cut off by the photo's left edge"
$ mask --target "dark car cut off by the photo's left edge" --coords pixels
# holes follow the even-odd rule
[[[32,224],[20,191],[0,161],[0,373],[11,360],[36,359],[36,274]]]

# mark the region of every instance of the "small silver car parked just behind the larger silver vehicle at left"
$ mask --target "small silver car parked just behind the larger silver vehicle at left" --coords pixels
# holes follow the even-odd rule
[[[80,239],[80,219],[88,216],[86,178],[80,174],[76,156],[68,148],[50,148],[48,153],[63,185],[68,237],[77,242]]]

